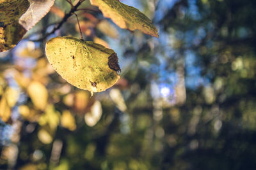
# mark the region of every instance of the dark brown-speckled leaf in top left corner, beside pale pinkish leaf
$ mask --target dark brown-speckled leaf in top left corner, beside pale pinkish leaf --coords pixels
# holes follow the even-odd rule
[[[26,33],[18,22],[28,6],[28,0],[0,1],[0,52],[13,48]]]

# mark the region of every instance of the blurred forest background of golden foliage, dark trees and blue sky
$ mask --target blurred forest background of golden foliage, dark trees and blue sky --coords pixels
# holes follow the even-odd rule
[[[86,40],[120,57],[106,92],[69,85],[45,41],[31,41],[66,1],[0,54],[0,169],[255,169],[256,1],[124,3],[154,18],[159,39],[118,29],[88,1],[77,12]],[[76,23],[52,36],[79,37]]]

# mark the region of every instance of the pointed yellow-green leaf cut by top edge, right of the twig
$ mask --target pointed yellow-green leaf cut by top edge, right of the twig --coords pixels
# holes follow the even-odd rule
[[[152,21],[138,9],[117,0],[90,0],[90,2],[99,7],[104,17],[111,18],[122,29],[131,31],[139,29],[145,34],[158,38],[157,29]]]

